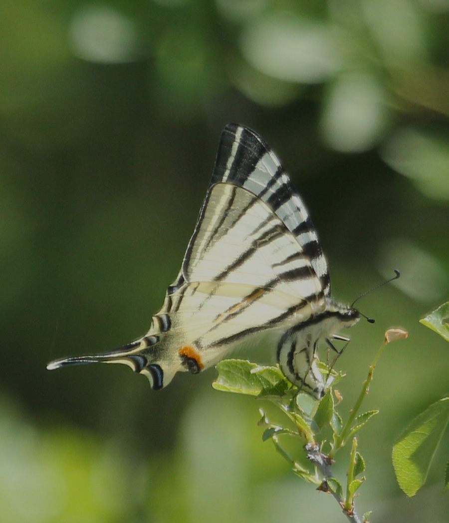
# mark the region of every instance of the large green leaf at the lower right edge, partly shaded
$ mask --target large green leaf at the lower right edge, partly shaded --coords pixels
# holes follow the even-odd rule
[[[407,496],[414,496],[426,481],[448,421],[449,397],[445,397],[413,419],[396,440],[393,467],[397,482]]]

